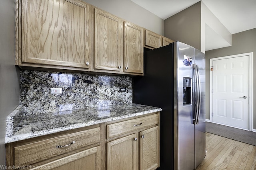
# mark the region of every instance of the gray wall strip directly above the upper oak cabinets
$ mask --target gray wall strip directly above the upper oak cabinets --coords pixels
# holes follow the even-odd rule
[[[164,35],[164,20],[131,0],[83,0],[126,21]]]

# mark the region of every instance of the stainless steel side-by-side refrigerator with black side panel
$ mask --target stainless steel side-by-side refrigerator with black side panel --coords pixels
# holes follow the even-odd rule
[[[181,42],[144,49],[133,102],[161,107],[160,170],[193,170],[206,154],[205,55]]]

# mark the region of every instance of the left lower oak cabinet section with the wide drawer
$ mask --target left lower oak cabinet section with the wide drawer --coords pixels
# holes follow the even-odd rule
[[[99,125],[6,144],[9,169],[101,170]]]

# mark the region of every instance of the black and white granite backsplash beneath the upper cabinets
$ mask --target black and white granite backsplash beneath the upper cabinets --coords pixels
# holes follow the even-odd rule
[[[126,92],[120,92],[125,87]],[[62,88],[62,94],[50,94]],[[132,103],[132,77],[20,70],[23,113],[38,114]]]

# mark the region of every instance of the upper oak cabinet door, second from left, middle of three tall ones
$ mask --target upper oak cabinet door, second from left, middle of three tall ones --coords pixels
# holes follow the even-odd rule
[[[120,18],[94,10],[94,68],[120,71],[122,68],[122,24]]]

